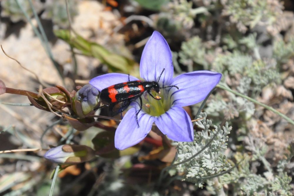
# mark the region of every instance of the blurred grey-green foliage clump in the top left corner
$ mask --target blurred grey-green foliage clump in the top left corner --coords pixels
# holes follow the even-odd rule
[[[43,4],[40,0],[32,0],[34,9],[36,11],[40,11],[43,7]],[[19,0],[19,4],[21,7],[26,11],[29,16],[33,16],[33,11],[30,7],[28,0]],[[1,1],[1,16],[2,17],[10,17],[12,22],[18,22],[20,20],[26,20],[23,12],[21,11],[20,7],[17,5],[15,0],[5,0]]]

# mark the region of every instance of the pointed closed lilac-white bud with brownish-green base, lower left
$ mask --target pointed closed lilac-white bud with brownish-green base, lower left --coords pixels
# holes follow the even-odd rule
[[[60,145],[48,150],[44,158],[58,164],[78,164],[95,157],[95,151],[86,145]]]

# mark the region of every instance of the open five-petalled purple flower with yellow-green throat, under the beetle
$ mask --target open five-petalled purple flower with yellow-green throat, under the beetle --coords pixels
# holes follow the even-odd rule
[[[178,86],[177,88],[161,89],[161,100],[156,100],[148,94],[142,96],[143,109],[136,112],[140,103],[135,101],[118,125],[115,133],[115,147],[119,150],[131,147],[150,132],[152,124],[170,139],[179,142],[191,142],[194,139],[193,126],[188,113],[183,106],[193,105],[206,98],[208,93],[219,83],[221,74],[211,71],[193,71],[173,78],[173,63],[171,50],[163,36],[154,31],[146,46],[140,62],[140,75],[145,81],[157,81],[163,68],[160,81],[161,87]],[[138,80],[130,76],[131,81]],[[128,81],[128,75],[122,73],[108,73],[90,80],[98,91],[108,86]],[[154,92],[153,92],[154,93]],[[153,94],[154,95],[154,94]]]

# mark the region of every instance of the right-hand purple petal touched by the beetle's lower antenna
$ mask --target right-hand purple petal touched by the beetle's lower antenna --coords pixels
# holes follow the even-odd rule
[[[184,73],[176,78],[170,85],[171,105],[187,106],[198,103],[206,98],[208,93],[220,82],[221,74],[212,71],[193,71]]]

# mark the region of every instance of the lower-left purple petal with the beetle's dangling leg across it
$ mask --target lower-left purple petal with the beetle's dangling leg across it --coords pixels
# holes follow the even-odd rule
[[[114,145],[118,150],[124,150],[142,141],[150,132],[154,118],[144,112],[138,114],[138,127],[136,120],[136,109],[131,108],[124,115],[121,123],[119,123],[115,136]]]

